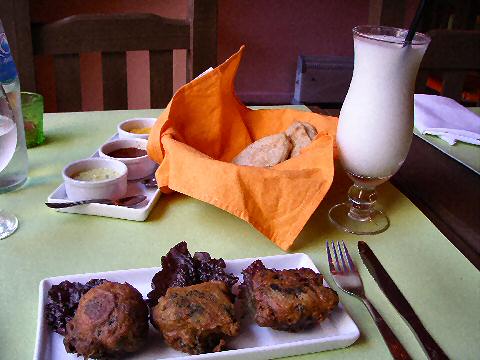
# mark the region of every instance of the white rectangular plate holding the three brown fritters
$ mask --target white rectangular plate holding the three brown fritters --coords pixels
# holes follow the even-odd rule
[[[288,254],[259,258],[265,266],[276,269],[310,268],[318,272],[312,260],[305,254]],[[256,259],[226,260],[227,271],[242,279],[241,272]],[[116,282],[128,282],[137,288],[146,298],[151,290],[153,275],[160,268],[119,270],[103,273],[67,275],[44,279],[40,282],[37,341],[34,360],[78,359],[75,354],[67,354],[63,346],[63,337],[51,331],[45,321],[44,308],[48,290],[63,280],[85,283],[92,278],[107,279]],[[328,284],[324,281],[324,285]],[[147,346],[128,359],[248,359],[263,360],[332,350],[353,344],[360,332],[347,314],[342,304],[322,323],[299,333],[276,331],[262,328],[254,322],[242,321],[240,334],[230,339],[227,346],[231,350],[201,355],[187,355],[169,348],[161,339],[158,331],[150,326]]]

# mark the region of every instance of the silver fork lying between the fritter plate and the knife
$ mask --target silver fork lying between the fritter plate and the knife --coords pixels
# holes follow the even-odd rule
[[[330,253],[330,246],[328,240],[326,242],[327,246],[327,256],[328,256],[328,266],[330,267],[330,273],[332,274],[335,284],[342,289],[347,294],[353,295],[360,299],[365,306],[367,307],[368,312],[372,316],[375,324],[377,325],[380,334],[383,337],[383,340],[388,346],[388,350],[392,354],[394,359],[411,359],[408,355],[405,348],[402,346],[400,341],[387,325],[382,316],[378,313],[377,309],[370,303],[370,301],[365,296],[365,290],[363,288],[362,279],[358,273],[353,260],[348,253],[345,243],[342,241],[342,247],[340,246],[340,241],[337,241],[337,248],[335,248],[335,242],[332,241],[333,255],[335,257],[335,263],[332,260],[332,255]],[[337,253],[338,249],[338,253]],[[340,260],[339,260],[340,259]]]

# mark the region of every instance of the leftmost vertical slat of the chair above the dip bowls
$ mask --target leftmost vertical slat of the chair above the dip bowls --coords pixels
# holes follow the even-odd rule
[[[57,111],[81,111],[80,56],[54,56]]]

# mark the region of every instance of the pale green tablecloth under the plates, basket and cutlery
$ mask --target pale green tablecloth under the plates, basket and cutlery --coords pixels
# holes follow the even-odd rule
[[[242,220],[180,194],[162,196],[143,223],[57,213],[43,205],[60,184],[62,167],[88,157],[118,122],[157,116],[159,110],[45,115],[46,143],[29,150],[30,178],[21,190],[0,195],[0,208],[15,213],[19,230],[0,241],[0,359],[29,359],[35,343],[38,284],[56,275],[158,266],[170,247],[186,240],[192,251],[227,259],[281,254]],[[455,359],[480,354],[480,274],[434,225],[391,184],[379,188],[391,219],[383,234],[367,237],[336,230],[328,209],[343,201],[350,183],[338,168],[332,188],[307,223],[294,252],[310,255],[328,275],[326,239],[345,239],[359,265],[366,292],[415,359],[425,359],[414,335],[361,264],[356,243],[369,243],[430,331]],[[461,189],[458,189],[461,191]],[[334,286],[335,288],[335,286]],[[372,319],[356,299],[339,293],[361,337],[347,349],[299,359],[389,357]]]

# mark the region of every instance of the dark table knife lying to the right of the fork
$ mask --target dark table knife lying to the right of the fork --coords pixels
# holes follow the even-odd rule
[[[448,359],[448,356],[443,352],[440,346],[425,329],[417,314],[415,314],[412,306],[408,303],[405,296],[403,296],[400,289],[393,282],[390,275],[388,275],[387,271],[366,242],[358,242],[358,252],[360,253],[363,263],[380,289],[383,291],[395,309],[397,309],[400,315],[402,315],[405,321],[410,325],[410,328],[415,333],[417,340],[420,342],[422,349],[428,358]]]

